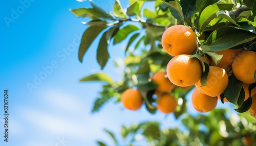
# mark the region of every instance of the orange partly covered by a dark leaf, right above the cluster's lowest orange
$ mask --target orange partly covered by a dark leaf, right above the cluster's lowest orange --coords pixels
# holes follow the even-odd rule
[[[205,86],[201,85],[201,79],[196,83],[196,87],[201,93],[215,97],[220,95],[227,87],[228,76],[225,69],[210,66]]]

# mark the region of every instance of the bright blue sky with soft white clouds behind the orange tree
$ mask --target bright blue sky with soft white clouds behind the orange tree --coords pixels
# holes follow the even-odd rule
[[[97,45],[93,43],[83,63],[78,61],[78,42],[87,28],[81,21],[88,19],[77,18],[69,11],[70,8],[90,7],[88,1],[0,3],[0,89],[2,92],[9,90],[9,142],[4,142],[0,134],[0,145],[56,145],[61,139],[68,141],[66,145],[96,145],[96,140],[113,145],[103,132],[104,128],[119,133],[121,125],[146,120],[162,121],[166,128],[177,126],[173,114],[158,111],[152,115],[145,107],[132,112],[124,110],[120,103],[115,104],[114,100],[100,112],[91,114],[102,84],[78,80],[101,71],[96,62],[94,48]],[[95,4],[111,11],[113,1],[97,0]],[[127,2],[122,1],[122,4]],[[120,43],[110,48],[111,60],[123,60],[124,45]],[[115,81],[121,77],[111,62],[103,72]],[[29,88],[34,82],[36,85]],[[3,102],[0,107],[3,115]],[[1,118],[0,133],[4,132],[3,125]],[[147,145],[145,141],[140,142]]]

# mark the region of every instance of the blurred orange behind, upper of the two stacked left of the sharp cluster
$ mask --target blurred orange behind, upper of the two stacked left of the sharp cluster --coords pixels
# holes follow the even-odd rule
[[[174,89],[175,85],[165,76],[164,71],[158,71],[151,77],[151,80],[158,84],[156,88],[160,92],[168,92]]]

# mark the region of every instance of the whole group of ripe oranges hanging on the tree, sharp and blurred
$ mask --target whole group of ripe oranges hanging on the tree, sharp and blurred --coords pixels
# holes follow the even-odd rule
[[[255,83],[256,52],[242,49],[215,52],[223,55],[218,64],[215,64],[209,56],[202,57],[202,61],[209,65],[207,80],[202,86],[202,64],[198,58],[190,57],[199,49],[194,31],[183,25],[175,25],[165,30],[161,41],[165,52],[173,58],[167,64],[166,75],[164,71],[159,71],[151,77],[159,85],[155,92],[158,95],[157,109],[163,113],[174,112],[177,102],[169,91],[172,91],[175,85],[179,87],[195,85],[191,97],[194,108],[200,112],[211,111],[228,86],[228,75],[233,74],[243,82],[245,100],[251,96],[252,106],[249,112],[256,116],[256,88],[251,90],[250,95],[248,91],[249,85]],[[121,102],[125,108],[137,110],[142,106],[143,98],[138,90],[127,89],[121,96]],[[228,100],[224,98],[224,102]]]

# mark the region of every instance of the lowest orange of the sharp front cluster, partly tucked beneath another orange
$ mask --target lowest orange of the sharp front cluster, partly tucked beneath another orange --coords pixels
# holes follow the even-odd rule
[[[202,94],[198,88],[195,88],[192,93],[192,104],[193,107],[199,112],[208,112],[214,110],[217,106],[217,97],[211,97]]]

